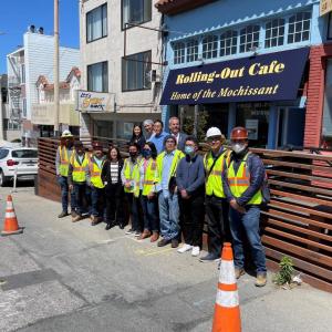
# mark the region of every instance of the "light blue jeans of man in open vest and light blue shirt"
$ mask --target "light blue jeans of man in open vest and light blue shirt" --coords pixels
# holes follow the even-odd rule
[[[177,195],[165,197],[163,191],[158,197],[160,234],[165,240],[177,239],[179,235],[179,207]]]

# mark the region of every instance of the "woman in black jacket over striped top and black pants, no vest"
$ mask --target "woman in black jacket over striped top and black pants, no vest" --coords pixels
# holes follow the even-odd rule
[[[106,196],[106,230],[118,225],[125,227],[124,190],[121,180],[123,159],[117,147],[111,146],[107,159],[102,169],[102,180],[105,185]]]

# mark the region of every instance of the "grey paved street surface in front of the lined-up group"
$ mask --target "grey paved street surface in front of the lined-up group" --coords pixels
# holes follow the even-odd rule
[[[10,189],[0,188],[1,228]],[[58,219],[60,204],[33,187],[12,197],[24,232],[0,238],[0,331],[210,331],[217,264],[117,227]],[[271,278],[261,289],[240,279],[243,332],[331,331],[330,293],[277,289]]]

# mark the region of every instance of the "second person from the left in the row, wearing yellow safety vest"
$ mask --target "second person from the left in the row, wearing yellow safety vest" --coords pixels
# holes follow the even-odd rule
[[[83,219],[84,205],[89,204],[85,176],[89,167],[89,156],[81,141],[75,142],[74,147],[75,153],[72,154],[70,159],[68,184],[70,191],[75,194],[77,216],[73,217],[72,221],[76,222]]]

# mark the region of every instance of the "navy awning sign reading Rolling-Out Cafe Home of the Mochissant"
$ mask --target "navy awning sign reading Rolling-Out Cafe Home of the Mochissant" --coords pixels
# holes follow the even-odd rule
[[[309,48],[169,72],[162,105],[294,100]]]

